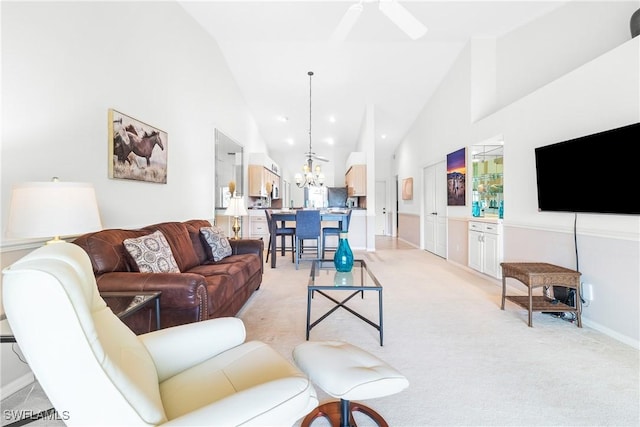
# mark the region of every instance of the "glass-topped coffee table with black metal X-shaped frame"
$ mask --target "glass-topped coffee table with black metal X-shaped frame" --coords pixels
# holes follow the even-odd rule
[[[339,301],[329,294],[329,292],[333,293],[333,291],[346,291],[348,295]],[[364,299],[365,291],[375,291],[378,293],[378,323],[367,319],[346,305],[347,302],[358,294]],[[315,293],[332,301],[335,306],[312,323],[311,300]],[[349,313],[377,329],[380,332],[380,345],[382,345],[382,286],[376,276],[369,270],[364,260],[356,259],[353,262],[353,269],[349,273],[338,272],[333,265],[333,260],[314,260],[312,262],[309,284],[307,286],[307,341],[309,340],[309,332],[311,329],[339,308],[347,310]]]

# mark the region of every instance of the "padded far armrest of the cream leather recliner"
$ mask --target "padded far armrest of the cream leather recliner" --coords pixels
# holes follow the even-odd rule
[[[164,381],[230,348],[242,344],[246,331],[242,320],[219,317],[174,326],[138,336]]]

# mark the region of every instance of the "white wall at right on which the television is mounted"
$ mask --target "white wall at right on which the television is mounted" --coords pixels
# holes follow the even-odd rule
[[[482,96],[470,90],[472,61],[486,57],[468,45],[396,150],[399,179],[418,176],[424,165],[447,153],[502,134],[505,259],[575,268],[574,216],[537,212],[533,149],[640,120],[640,39],[629,40],[629,18],[637,7],[637,2],[572,2],[498,38],[495,51],[487,51],[496,61],[500,109],[475,123],[469,119],[472,106],[491,100],[472,98]],[[588,174],[580,179],[588,182]],[[414,180],[414,194],[422,194],[419,186]],[[419,213],[419,204],[401,201],[400,212]],[[448,216],[470,216],[469,200],[466,207],[450,207]],[[457,243],[466,246],[465,238]],[[592,283],[597,295],[584,308],[585,324],[637,347],[639,218],[579,215],[578,241],[583,281]]]

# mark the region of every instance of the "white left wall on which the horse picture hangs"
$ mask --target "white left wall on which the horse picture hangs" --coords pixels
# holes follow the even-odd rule
[[[212,219],[214,129],[265,150],[215,41],[178,4],[1,7],[2,267],[19,243],[4,238],[14,184],[91,182],[104,227]],[[166,185],[107,177],[109,108],[168,132]],[[1,369],[3,397],[30,378],[8,344]]]

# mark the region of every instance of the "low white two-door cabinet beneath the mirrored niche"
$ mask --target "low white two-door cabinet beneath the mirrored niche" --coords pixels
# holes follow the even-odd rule
[[[469,221],[469,267],[502,278],[502,224]]]

